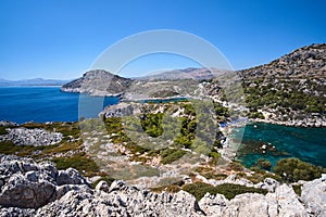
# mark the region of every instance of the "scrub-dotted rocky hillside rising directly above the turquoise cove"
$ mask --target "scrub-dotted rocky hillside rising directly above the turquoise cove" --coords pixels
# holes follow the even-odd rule
[[[326,43],[303,47],[236,73],[242,79],[249,118],[299,127],[326,126]],[[205,87],[209,95],[223,100],[216,80]]]

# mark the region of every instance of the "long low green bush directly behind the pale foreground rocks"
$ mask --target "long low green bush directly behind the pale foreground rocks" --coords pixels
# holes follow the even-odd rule
[[[261,193],[266,194],[267,190],[265,189],[256,189],[253,187],[244,187],[240,184],[234,183],[223,183],[216,187],[213,187],[203,182],[195,182],[190,184],[185,184],[183,188],[185,191],[195,195],[195,197],[199,201],[202,199],[206,192],[211,194],[223,194],[226,199],[231,200],[238,194],[242,193]]]

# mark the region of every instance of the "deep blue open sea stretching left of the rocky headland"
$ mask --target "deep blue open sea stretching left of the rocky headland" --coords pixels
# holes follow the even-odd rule
[[[0,120],[76,122],[97,117],[104,106],[117,102],[118,98],[61,92],[59,87],[1,87]]]

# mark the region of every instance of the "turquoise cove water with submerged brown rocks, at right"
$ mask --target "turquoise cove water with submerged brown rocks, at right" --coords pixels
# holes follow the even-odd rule
[[[326,128],[254,123],[234,129],[231,138],[234,142],[241,141],[237,159],[247,167],[253,166],[259,158],[267,159],[275,165],[284,157],[298,157],[326,167]],[[262,149],[263,145],[265,149]]]

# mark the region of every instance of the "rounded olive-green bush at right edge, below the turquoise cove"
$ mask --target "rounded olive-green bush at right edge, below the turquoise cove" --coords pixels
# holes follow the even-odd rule
[[[274,173],[281,176],[285,181],[310,181],[319,178],[326,168],[314,166],[298,158],[283,158],[276,163]]]

